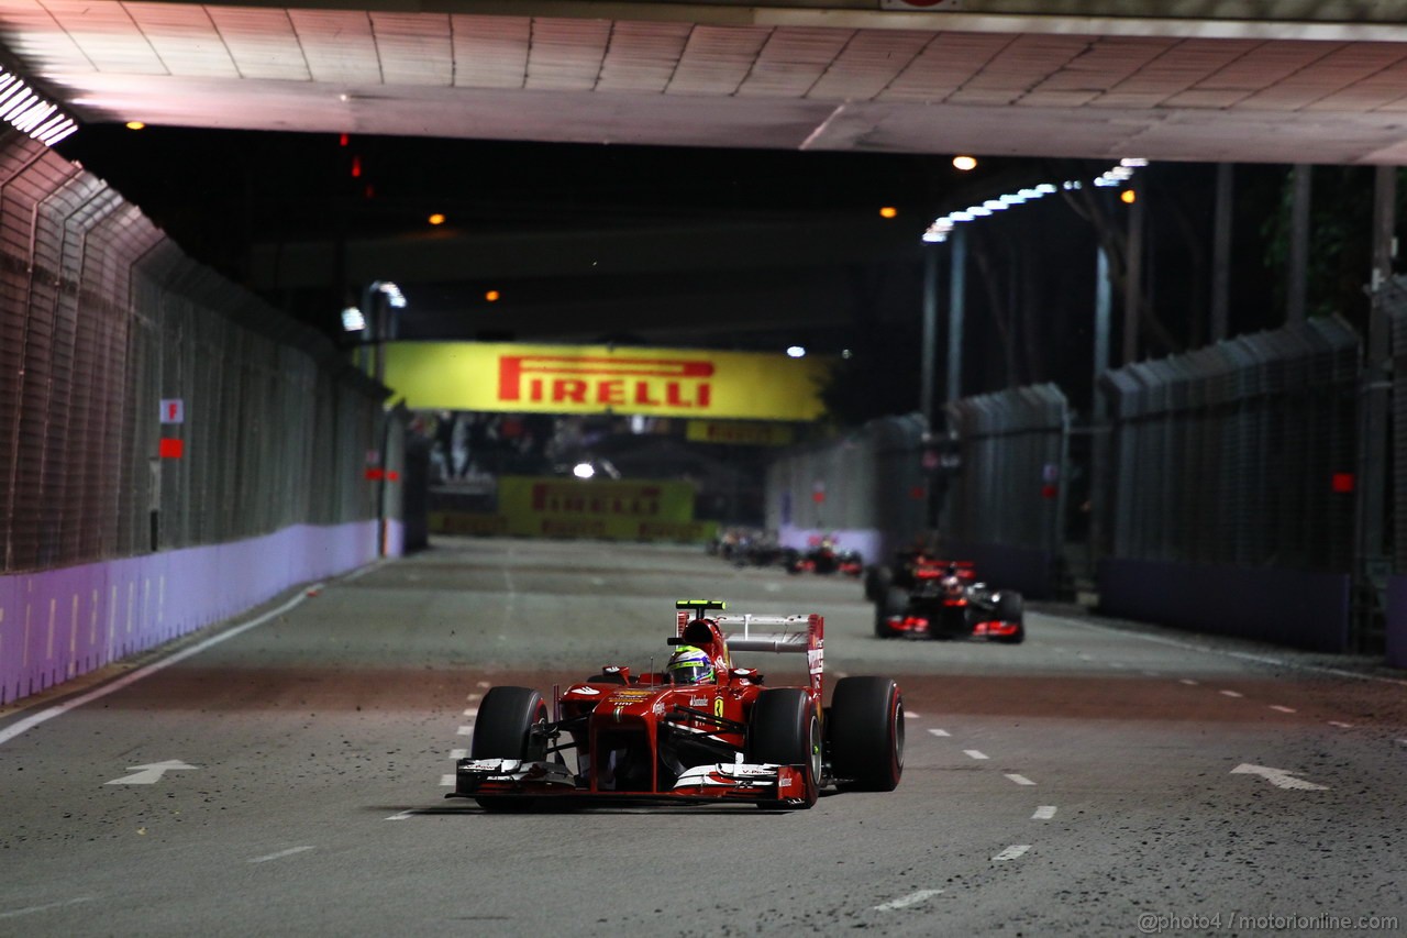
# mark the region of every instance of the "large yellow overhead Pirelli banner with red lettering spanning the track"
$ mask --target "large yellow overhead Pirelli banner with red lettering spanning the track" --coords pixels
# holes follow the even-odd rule
[[[388,342],[411,410],[815,420],[825,358],[609,345]]]

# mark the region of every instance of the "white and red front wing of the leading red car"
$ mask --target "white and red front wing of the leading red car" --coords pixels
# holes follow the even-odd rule
[[[454,765],[454,792],[447,799],[573,797],[618,801],[756,801],[779,806],[805,804],[806,777],[801,766],[718,762],[687,769],[660,792],[592,792],[582,779],[557,762],[519,759],[460,759]]]

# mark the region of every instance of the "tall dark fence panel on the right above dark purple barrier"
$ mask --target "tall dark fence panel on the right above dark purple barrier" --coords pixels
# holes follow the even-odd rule
[[[1110,372],[1109,554],[1346,573],[1359,363],[1314,318]]]

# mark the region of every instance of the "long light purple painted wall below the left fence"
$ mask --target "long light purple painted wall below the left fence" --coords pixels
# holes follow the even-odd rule
[[[0,704],[370,563],[378,525],[297,525],[231,544],[0,576]],[[395,541],[387,534],[388,546]]]

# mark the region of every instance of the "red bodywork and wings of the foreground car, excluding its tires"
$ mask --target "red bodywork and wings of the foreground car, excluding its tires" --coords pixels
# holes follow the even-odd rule
[[[805,652],[805,690],[819,718],[825,620],[816,614],[689,618],[688,610],[677,617],[678,638],[671,644],[706,651],[716,683],[677,686],[661,672],[636,676],[628,666],[605,668],[554,701],[549,731],[556,742],[547,752],[574,749],[575,770],[560,756],[519,765],[461,759],[456,790],[447,797],[813,803],[822,775],[819,749],[809,773],[795,765],[744,761],[749,715],[765,689],[756,669],[734,666],[732,652]],[[757,631],[778,625],[784,631]],[[734,631],[725,635],[723,627]]]

